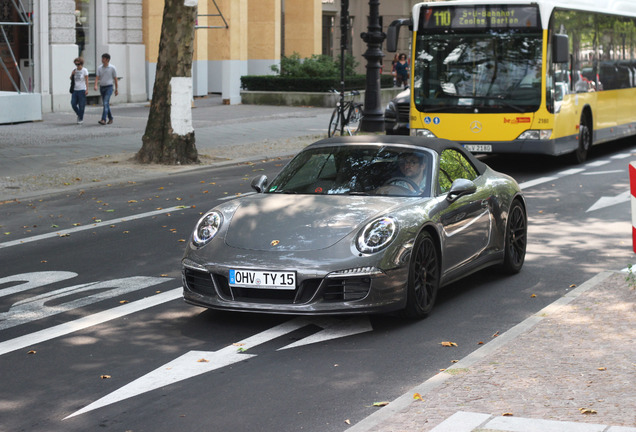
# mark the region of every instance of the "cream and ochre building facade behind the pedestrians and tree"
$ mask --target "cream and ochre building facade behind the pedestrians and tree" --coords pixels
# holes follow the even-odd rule
[[[368,0],[350,0],[348,49],[364,72]],[[414,0],[380,1],[383,27],[409,16]],[[92,79],[101,54],[120,77],[112,103],[152,98],[163,0],[0,0],[0,123],[70,111],[73,60],[83,57]],[[273,74],[281,56],[340,53],[340,0],[199,0],[193,95],[241,102],[240,77]],[[5,36],[6,35],[6,36]],[[408,49],[408,35],[404,35]],[[385,58],[385,65],[389,58]]]

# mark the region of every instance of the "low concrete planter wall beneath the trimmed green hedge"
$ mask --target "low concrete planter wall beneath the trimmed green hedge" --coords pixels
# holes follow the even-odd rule
[[[382,107],[389,103],[402,88],[381,89]],[[364,103],[364,90],[360,91],[357,100]],[[335,107],[338,95],[321,92],[269,92],[269,91],[241,91],[241,103],[249,105],[286,105]]]

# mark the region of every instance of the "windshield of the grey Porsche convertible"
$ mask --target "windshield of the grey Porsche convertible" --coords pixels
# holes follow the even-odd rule
[[[429,196],[428,150],[400,146],[343,145],[299,153],[268,193]]]

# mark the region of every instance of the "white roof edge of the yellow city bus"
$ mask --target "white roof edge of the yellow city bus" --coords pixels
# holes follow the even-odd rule
[[[589,12],[607,13],[636,17],[635,0],[449,0],[435,1],[429,0],[417,3],[413,6],[413,30],[417,31],[419,25],[420,9],[422,7],[447,7],[447,6],[503,6],[503,5],[538,5],[541,11],[541,23],[544,29],[548,28],[550,15],[554,8],[574,9]]]

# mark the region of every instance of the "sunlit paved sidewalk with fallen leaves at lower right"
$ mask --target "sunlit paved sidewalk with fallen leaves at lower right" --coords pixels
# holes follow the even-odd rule
[[[597,275],[347,432],[636,432],[625,276]]]

